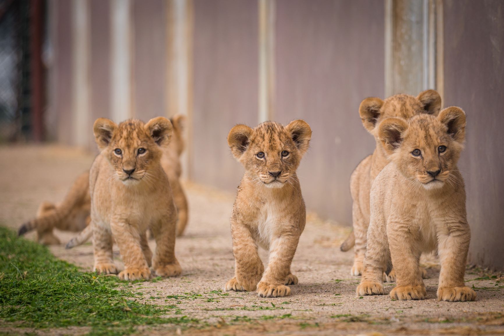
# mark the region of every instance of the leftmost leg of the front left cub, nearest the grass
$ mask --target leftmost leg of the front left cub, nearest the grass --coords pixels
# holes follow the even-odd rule
[[[94,267],[93,271],[98,274],[117,274],[117,267],[112,258],[112,234],[110,231],[93,222],[93,248]]]

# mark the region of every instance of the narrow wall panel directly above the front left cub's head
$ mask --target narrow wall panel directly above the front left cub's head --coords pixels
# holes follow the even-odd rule
[[[144,121],[167,114],[166,6],[164,0],[133,2],[133,115]]]

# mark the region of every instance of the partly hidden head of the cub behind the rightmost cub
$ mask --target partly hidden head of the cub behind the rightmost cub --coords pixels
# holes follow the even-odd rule
[[[359,106],[359,114],[364,128],[375,138],[377,126],[382,120],[390,117],[408,119],[417,114],[437,115],[441,109],[441,97],[434,90],[421,92],[417,97],[394,95],[385,100],[366,98]]]

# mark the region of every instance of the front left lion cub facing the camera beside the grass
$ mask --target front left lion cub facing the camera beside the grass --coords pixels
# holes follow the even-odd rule
[[[145,232],[150,227],[156,239],[154,273],[179,275],[174,251],[177,214],[160,161],[160,147],[170,141],[171,122],[157,117],[147,124],[132,119],[116,125],[99,118],[93,131],[101,150],[91,166],[89,182],[95,271],[117,273],[113,236],[125,266],[119,278],[149,279],[152,252]]]

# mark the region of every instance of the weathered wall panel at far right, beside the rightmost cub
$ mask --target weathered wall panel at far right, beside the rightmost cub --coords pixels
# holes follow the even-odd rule
[[[467,113],[469,261],[504,269],[504,3],[444,2],[444,106]]]

